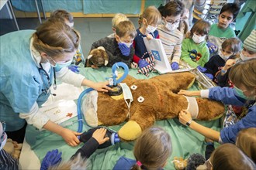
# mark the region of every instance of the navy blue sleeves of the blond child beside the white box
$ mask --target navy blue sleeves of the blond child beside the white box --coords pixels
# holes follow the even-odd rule
[[[153,32],[154,34],[150,33],[151,36],[153,36],[154,38],[157,38],[159,35],[158,35],[158,31],[155,30]],[[144,44],[144,40],[143,38],[146,37],[146,35],[144,35],[143,33],[140,32],[140,29],[137,29],[137,36],[135,37],[133,43],[135,43],[135,55],[138,56],[138,57],[142,57],[144,55],[144,53],[147,52],[147,48]],[[146,54],[144,56],[144,58],[147,58],[149,57],[148,54]]]

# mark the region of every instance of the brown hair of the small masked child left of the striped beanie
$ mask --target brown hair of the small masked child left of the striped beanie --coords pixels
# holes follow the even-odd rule
[[[230,39],[226,39],[222,44],[221,44],[221,48],[222,49],[230,49],[230,52],[232,53],[237,53],[240,51],[242,46],[242,42],[240,39],[238,39],[237,37],[235,38],[230,38]]]

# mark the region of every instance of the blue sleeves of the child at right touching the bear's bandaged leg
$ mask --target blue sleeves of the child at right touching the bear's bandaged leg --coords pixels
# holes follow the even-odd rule
[[[224,104],[232,104],[235,106],[243,106],[245,100],[237,97],[234,89],[228,87],[213,87],[209,89],[209,99],[220,100]],[[245,128],[256,128],[256,105],[248,109],[245,117],[237,124],[230,125],[220,131],[220,138],[223,143],[235,143],[239,131]]]

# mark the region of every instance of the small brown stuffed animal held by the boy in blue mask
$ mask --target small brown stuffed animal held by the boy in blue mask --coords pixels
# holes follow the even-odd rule
[[[85,67],[92,67],[98,69],[101,66],[106,66],[109,63],[109,56],[103,46],[99,46],[97,49],[92,49],[86,59]]]

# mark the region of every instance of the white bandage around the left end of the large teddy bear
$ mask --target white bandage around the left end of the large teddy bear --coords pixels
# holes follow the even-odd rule
[[[83,100],[81,105],[81,111],[84,113],[85,121],[91,127],[98,126],[98,96],[98,92],[96,90],[92,90],[86,95],[85,100]]]

